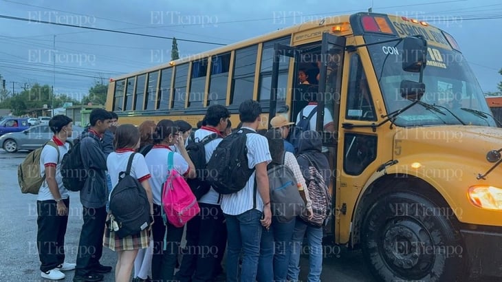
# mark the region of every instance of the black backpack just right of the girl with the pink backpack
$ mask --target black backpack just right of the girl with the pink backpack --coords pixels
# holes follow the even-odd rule
[[[200,142],[188,142],[188,146],[186,147],[186,151],[188,152],[188,156],[190,160],[192,160],[193,165],[195,166],[195,171],[197,173],[197,177],[193,179],[187,179],[186,183],[190,186],[190,189],[193,192],[193,195],[199,200],[202,196],[208,193],[211,188],[211,184],[206,181],[208,177],[208,170],[206,164],[206,144],[215,140],[217,138],[221,138],[216,133],[212,133],[203,138]]]

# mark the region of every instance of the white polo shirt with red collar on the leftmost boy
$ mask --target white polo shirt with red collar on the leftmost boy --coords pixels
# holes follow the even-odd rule
[[[52,137],[52,141],[56,143],[59,149],[59,158],[58,158],[58,150],[54,148],[50,144],[46,144],[40,155],[40,175],[42,177],[45,176],[45,168],[47,166],[52,166],[56,168],[56,183],[58,184],[59,194],[61,194],[61,199],[67,199],[68,191],[63,185],[63,176],[61,176],[61,160],[63,160],[63,156],[69,150],[69,144],[67,142],[63,143],[61,140],[56,138],[56,136]],[[44,180],[42,186],[39,190],[39,195],[36,197],[38,201],[46,201],[49,199],[54,199],[52,193],[49,190],[49,186],[47,186],[47,181]]]

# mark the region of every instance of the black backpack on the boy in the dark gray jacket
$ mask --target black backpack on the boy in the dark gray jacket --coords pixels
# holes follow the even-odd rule
[[[77,192],[84,187],[88,175],[80,155],[79,140],[76,140],[76,144],[63,156],[61,176],[63,177],[63,185],[68,191]]]

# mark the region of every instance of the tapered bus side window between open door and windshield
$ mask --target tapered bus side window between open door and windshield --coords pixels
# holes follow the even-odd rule
[[[347,111],[349,120],[376,120],[375,106],[369,92],[369,85],[358,54],[351,56]]]

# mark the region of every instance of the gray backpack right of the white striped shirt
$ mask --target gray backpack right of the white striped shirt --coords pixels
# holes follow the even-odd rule
[[[284,165],[285,152],[281,164],[272,165],[268,169],[268,184],[270,187],[270,202],[272,216],[279,222],[290,222],[301,215],[305,202],[298,192],[296,180],[291,169]]]

